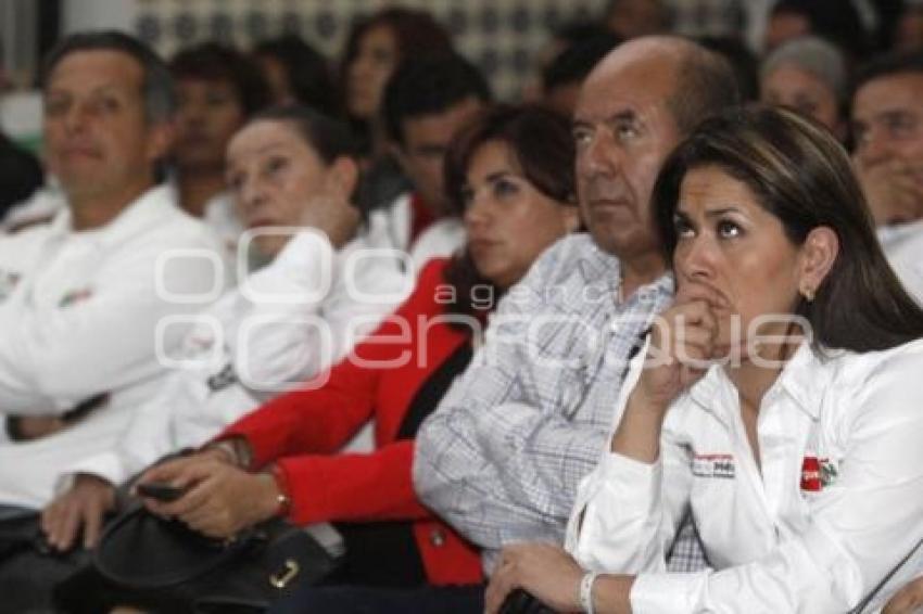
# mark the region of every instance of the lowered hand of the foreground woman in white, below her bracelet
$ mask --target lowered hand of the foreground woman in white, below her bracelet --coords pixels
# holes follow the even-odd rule
[[[580,611],[583,570],[562,548],[515,543],[503,549],[485,596],[485,612],[500,612],[504,600],[522,588],[556,612]]]

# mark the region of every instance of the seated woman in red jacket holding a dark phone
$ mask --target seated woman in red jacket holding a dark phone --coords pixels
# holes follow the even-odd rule
[[[548,111],[498,106],[480,115],[446,161],[466,252],[431,261],[396,314],[319,382],[267,402],[200,453],[142,475],[187,489],[148,508],[213,537],[275,515],[337,522],[346,546],[342,584],[481,581],[473,547],[414,494],[413,438],[470,360],[496,294],[579,226],[573,155],[568,123]],[[338,453],[371,419],[377,449]]]

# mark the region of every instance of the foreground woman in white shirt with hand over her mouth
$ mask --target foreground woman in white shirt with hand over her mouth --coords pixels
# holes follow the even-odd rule
[[[881,607],[923,561],[923,311],[846,153],[792,112],[728,112],[668,158],[653,206],[675,302],[567,552],[505,550],[488,611],[515,587],[597,613]],[[713,570],[668,574],[687,513]]]

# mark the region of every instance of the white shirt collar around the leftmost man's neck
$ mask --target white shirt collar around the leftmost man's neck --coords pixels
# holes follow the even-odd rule
[[[63,207],[51,221],[51,232],[60,236],[86,236],[102,244],[124,241],[126,238],[149,230],[163,220],[167,209],[175,209],[174,192],[167,186],[155,186],[126,206],[115,219],[92,230],[74,231],[71,227],[69,207]]]

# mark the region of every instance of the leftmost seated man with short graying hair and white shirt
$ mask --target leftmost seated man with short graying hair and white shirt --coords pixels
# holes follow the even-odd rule
[[[61,468],[115,445],[161,386],[157,344],[173,353],[186,334],[168,327],[157,340],[157,325],[222,290],[214,234],[156,184],[175,106],[161,60],[123,34],[74,35],[52,50],[42,82],[47,161],[67,207],[0,239],[7,516],[37,515]],[[13,567],[29,577],[7,561],[4,596],[21,592],[7,585]]]

